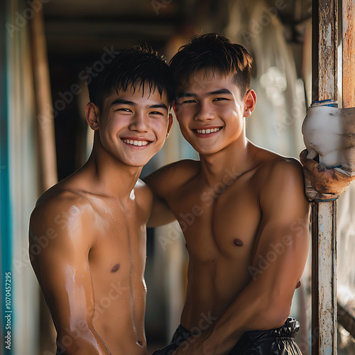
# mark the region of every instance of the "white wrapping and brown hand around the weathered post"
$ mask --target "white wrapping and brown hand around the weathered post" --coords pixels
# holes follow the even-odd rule
[[[355,179],[355,108],[310,107],[302,124],[304,165],[309,200],[339,197]],[[314,159],[319,155],[319,162]]]

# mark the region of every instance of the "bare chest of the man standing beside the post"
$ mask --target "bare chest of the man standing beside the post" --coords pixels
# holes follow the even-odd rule
[[[209,262],[219,256],[249,261],[261,211],[250,180],[210,187],[187,186],[172,204],[190,258]]]

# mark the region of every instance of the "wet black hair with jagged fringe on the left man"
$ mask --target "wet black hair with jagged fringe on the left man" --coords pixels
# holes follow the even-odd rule
[[[109,53],[111,60],[106,60],[99,72],[92,70],[87,77],[90,102],[102,111],[104,99],[114,90],[126,91],[132,87],[133,92],[148,84],[150,93],[158,90],[168,96],[169,104],[173,103],[173,80],[170,68],[163,56],[158,55],[147,45],[116,50]]]

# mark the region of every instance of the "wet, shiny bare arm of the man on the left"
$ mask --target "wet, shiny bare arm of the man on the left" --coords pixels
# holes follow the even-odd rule
[[[60,354],[109,355],[92,325],[94,293],[88,261],[94,245],[92,207],[70,202],[56,199],[33,211],[31,263],[55,322]]]

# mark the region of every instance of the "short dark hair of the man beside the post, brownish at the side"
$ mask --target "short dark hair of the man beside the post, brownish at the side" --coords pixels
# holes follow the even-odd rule
[[[195,35],[190,43],[183,45],[170,60],[175,89],[190,79],[190,75],[198,70],[211,70],[222,75],[234,74],[235,83],[239,86],[241,97],[250,89],[251,63],[253,58],[239,44],[218,33]]]

